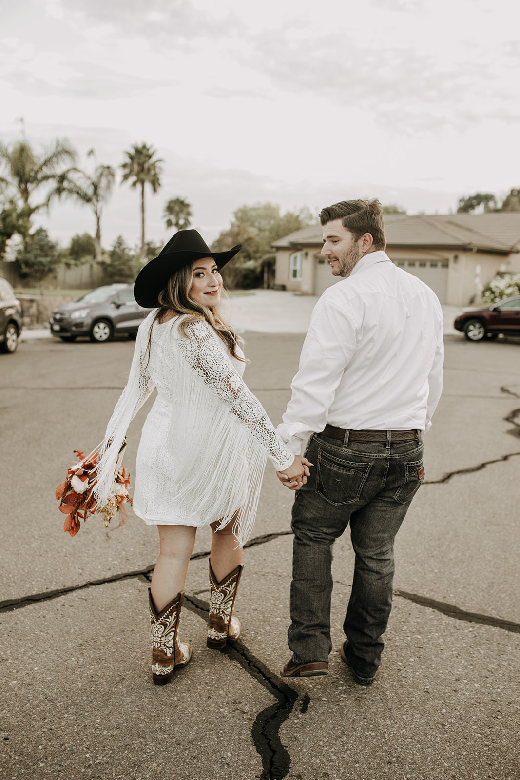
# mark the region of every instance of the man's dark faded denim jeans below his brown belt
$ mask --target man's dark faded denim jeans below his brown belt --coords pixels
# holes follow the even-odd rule
[[[362,676],[380,665],[392,605],[394,538],[424,476],[423,442],[345,441],[315,434],[314,467],[295,495],[288,646],[295,663],[328,661],[331,643],[331,545],[350,523],[356,553],[343,629],[349,661]],[[419,473],[420,472],[420,473]]]

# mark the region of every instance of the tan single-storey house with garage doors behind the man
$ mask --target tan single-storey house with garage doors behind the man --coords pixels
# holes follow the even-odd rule
[[[520,273],[520,212],[384,215],[387,254],[426,282],[440,300],[466,306],[498,271]],[[320,255],[321,225],[310,225],[271,245],[275,285],[320,296],[339,281]]]

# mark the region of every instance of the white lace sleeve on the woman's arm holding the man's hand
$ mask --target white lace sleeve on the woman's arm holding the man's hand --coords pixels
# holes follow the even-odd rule
[[[277,469],[288,468],[294,454],[281,441],[264,407],[233,368],[224,344],[203,322],[189,324],[188,333],[188,339],[179,339],[179,350],[189,369],[225,402]]]

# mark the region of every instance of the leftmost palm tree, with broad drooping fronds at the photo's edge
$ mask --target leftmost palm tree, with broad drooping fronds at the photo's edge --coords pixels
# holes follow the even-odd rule
[[[26,235],[30,230],[30,218],[35,211],[48,207],[51,195],[39,204],[31,203],[35,190],[62,175],[63,166],[76,161],[76,151],[69,141],[56,139],[40,154],[27,140],[16,141],[10,147],[0,142],[0,163],[6,169],[7,178],[0,176],[0,183],[14,186],[22,201],[20,215]]]

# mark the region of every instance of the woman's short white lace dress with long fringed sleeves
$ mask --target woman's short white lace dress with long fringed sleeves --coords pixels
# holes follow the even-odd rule
[[[133,509],[145,523],[200,527],[233,517],[241,544],[252,530],[267,456],[278,470],[293,453],[264,407],[242,381],[244,363],[202,321],[140,326],[129,381],[108,424],[100,484],[111,482],[129,421],[154,388],[157,398],[143,425],[136,461]],[[239,515],[237,518],[237,510]]]

